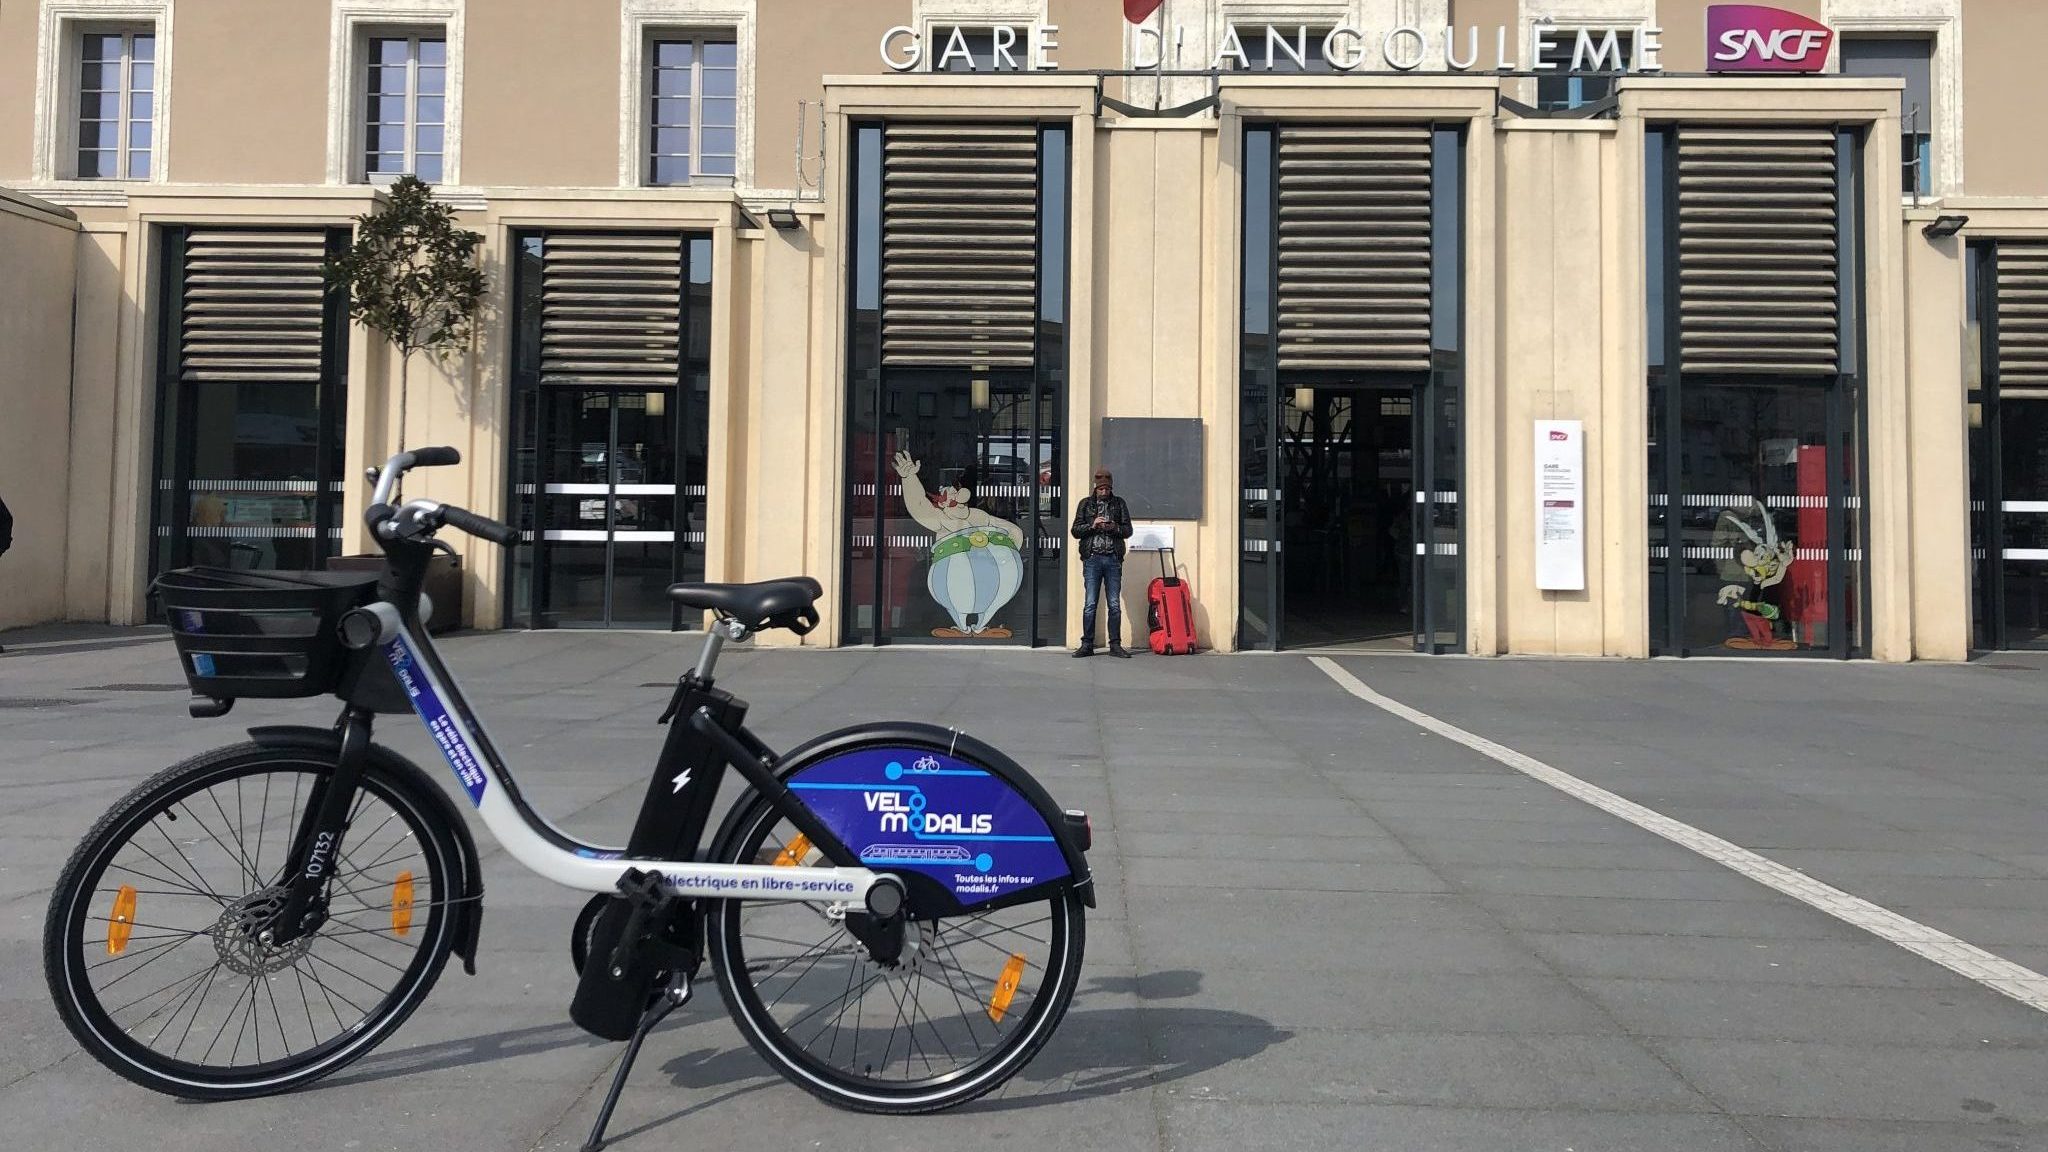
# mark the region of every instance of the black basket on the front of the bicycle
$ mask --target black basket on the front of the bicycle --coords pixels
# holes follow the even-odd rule
[[[156,594],[195,693],[293,699],[340,687],[352,654],[336,623],[377,596],[377,576],[180,568]]]

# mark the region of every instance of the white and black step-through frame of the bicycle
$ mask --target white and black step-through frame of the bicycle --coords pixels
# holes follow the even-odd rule
[[[629,869],[659,871],[678,896],[858,904],[877,873],[860,867],[821,820],[776,777],[776,754],[743,726],[745,703],[713,687],[723,635],[713,631],[696,668],[676,685],[674,719],[627,849],[578,840],[555,828],[520,795],[510,769],[475,719],[461,687],[440,662],[412,613],[391,603],[371,605],[377,650],[389,662],[414,713],[455,771],[492,836],[535,873],[582,892],[616,892]],[[725,767],[737,769],[811,842],[831,867],[793,871],[776,865],[721,865],[649,855],[655,845],[698,851]],[[666,789],[666,793],[664,793]]]

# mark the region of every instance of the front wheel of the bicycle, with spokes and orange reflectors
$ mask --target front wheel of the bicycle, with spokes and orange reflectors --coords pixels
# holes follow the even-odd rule
[[[373,1050],[426,998],[453,945],[461,849],[422,785],[383,767],[362,771],[319,927],[262,939],[332,775],[315,750],[221,748],[86,834],[49,902],[43,965],[100,1064],[176,1097],[283,1093]]]

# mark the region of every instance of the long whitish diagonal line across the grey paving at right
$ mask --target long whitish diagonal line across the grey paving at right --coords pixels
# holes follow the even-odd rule
[[[1726,865],[1765,888],[1776,888],[1778,892],[1784,892],[1786,896],[1798,900],[1800,904],[1819,908],[1845,924],[1862,929],[1874,937],[1886,939],[1911,951],[1913,955],[1931,959],[1958,976],[1964,976],[1968,980],[1982,984],[1985,988],[1991,988],[1993,992],[2001,992],[2005,996],[2011,996],[2013,1000],[2019,1000],[2030,1009],[2048,1013],[2048,976],[2042,976],[2032,968],[2021,968],[1972,943],[1960,941],[1939,929],[1929,929],[1927,924],[1909,920],[1898,912],[1892,912],[1890,908],[1880,908],[1870,900],[1864,900],[1862,896],[1849,896],[1847,892],[1821,883],[1819,879],[1794,867],[1786,867],[1767,857],[1759,857],[1757,853],[1751,853],[1741,845],[1722,840],[1712,832],[1702,832],[1692,824],[1673,820],[1669,816],[1663,816],[1661,812],[1642,808],[1632,799],[1614,795],[1604,787],[1585,783],[1567,771],[1552,769],[1550,765],[1538,760],[1536,756],[1516,752],[1505,744],[1495,744],[1485,736],[1475,736],[1458,728],[1456,724],[1448,724],[1444,719],[1430,715],[1427,711],[1419,711],[1397,699],[1384,697],[1366,687],[1364,681],[1341,668],[1335,660],[1329,660],[1325,656],[1311,656],[1309,660],[1317,668],[1321,668],[1331,681],[1335,681],[1337,687],[1370,703],[1372,707],[1399,715],[1401,719],[1407,719],[1409,724],[1423,728],[1427,732],[1436,732],[1438,736],[1454,744],[1462,744],[1479,752],[1481,756],[1507,765],[1509,769],[1530,779],[1542,781],[1563,791],[1565,795],[1583,799],[1585,804],[1591,804],[1593,808],[1610,816],[1620,816],[1622,820],[1628,820],[1636,828],[1642,828],[1645,832],[1655,832],[1681,849],[1692,849],[1694,853],[1700,853],[1702,857],[1714,863]]]

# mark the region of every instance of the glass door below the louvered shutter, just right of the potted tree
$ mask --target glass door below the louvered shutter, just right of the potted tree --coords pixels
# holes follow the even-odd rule
[[[541,408],[537,623],[676,627],[668,586],[702,531],[678,531],[674,389],[553,387]]]

